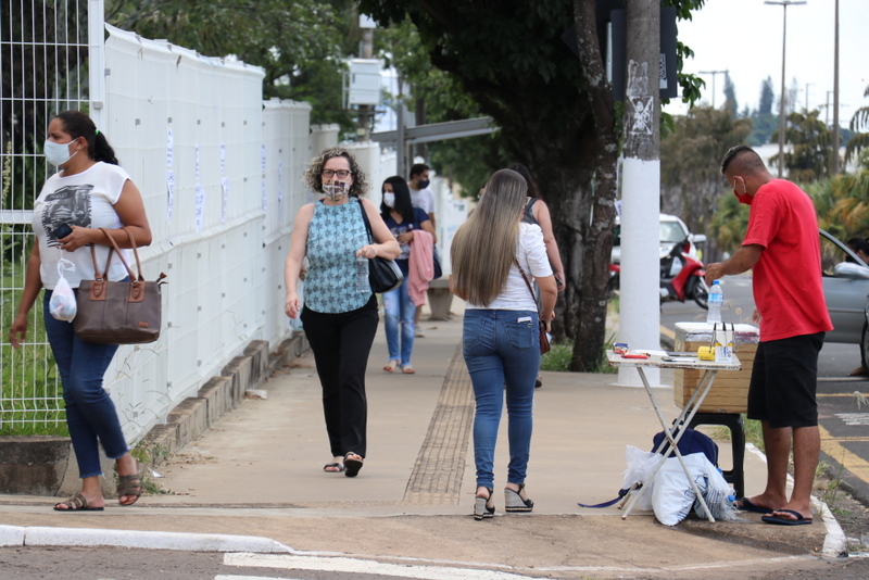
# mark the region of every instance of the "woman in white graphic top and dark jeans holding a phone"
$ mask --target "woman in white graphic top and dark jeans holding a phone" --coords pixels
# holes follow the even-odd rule
[[[60,281],[60,260],[75,265],[64,277],[76,292],[81,280],[93,279],[97,274],[91,245],[98,263],[105,264],[111,242],[99,228],[105,228],[119,248],[128,249],[130,241],[122,228],[126,227],[136,245],[142,247],[151,243],[151,227],[139,189],[117,164],[114,150],[89,116],[66,111],[51,119],[45,152],[46,160],[60,171],[48,178],[34,203],[36,243],[27,262],[24,291],[9,341],[13,348],[21,348],[30,308],[39,290],[45,289],[46,335],[63,384],[66,425],[81,478],[81,491],[54,509],[101,512],[105,500],[100,487],[100,444],[105,455],[115,461],[118,503],[133,505],[142,491],[139,466],[129,453],[112,398],[102,387],[117,344],[83,341],[72,323],[50,314],[49,303]],[[70,226],[72,231],[59,238],[56,232],[63,230],[62,226]],[[114,261],[109,279],[121,281],[127,277],[121,261]]]

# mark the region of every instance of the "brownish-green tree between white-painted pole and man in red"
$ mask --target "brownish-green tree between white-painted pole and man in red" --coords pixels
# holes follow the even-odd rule
[[[694,106],[676,117],[675,130],[660,142],[662,209],[682,216],[691,231],[707,232],[707,262],[720,254],[713,223],[722,192],[721,159],[745,142],[751,129],[751,118]]]

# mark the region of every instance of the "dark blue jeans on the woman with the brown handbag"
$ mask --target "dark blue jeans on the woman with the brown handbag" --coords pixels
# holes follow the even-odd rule
[[[51,316],[50,300],[51,290],[46,290],[46,333],[61,374],[66,425],[78,461],[78,477],[101,476],[100,443],[105,455],[112,459],[117,459],[129,451],[121,430],[115,404],[102,388],[102,377],[117,351],[117,345],[96,344],[79,339],[73,323]]]

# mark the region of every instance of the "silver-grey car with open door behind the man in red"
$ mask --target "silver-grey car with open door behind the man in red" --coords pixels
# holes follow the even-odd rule
[[[869,353],[867,304],[869,304],[869,266],[846,244],[824,230],[820,231],[823,298],[833,329],[826,342],[860,344]]]

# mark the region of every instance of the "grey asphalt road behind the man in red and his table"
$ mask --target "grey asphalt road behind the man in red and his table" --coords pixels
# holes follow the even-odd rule
[[[751,278],[727,277],[725,321],[750,323],[754,312]],[[672,332],[677,323],[705,320],[706,311],[693,301],[663,305],[660,324]],[[867,377],[848,377],[860,365],[859,344],[826,343],[818,358],[818,412],[823,457],[830,475],[843,480],[851,492],[869,505],[869,400]],[[855,394],[858,393],[858,394]],[[845,464],[849,469],[842,467]]]

